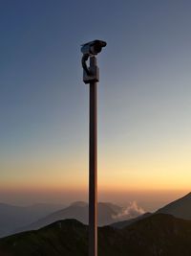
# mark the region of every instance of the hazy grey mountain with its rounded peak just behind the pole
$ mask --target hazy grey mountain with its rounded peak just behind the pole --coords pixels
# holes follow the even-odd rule
[[[114,216],[122,211],[122,207],[119,207],[110,202],[98,202],[98,225],[106,225],[114,222]],[[60,221],[65,219],[76,219],[82,223],[88,223],[88,203],[86,202],[74,202],[69,207],[56,211],[53,214],[48,215],[38,221],[32,222],[30,225],[23,226],[15,230],[16,232],[35,230],[54,221]]]

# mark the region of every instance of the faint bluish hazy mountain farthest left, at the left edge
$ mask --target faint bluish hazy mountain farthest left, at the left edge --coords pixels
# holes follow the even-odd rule
[[[14,229],[37,221],[60,208],[63,208],[63,205],[38,203],[30,206],[14,206],[0,203],[0,237],[8,236]]]

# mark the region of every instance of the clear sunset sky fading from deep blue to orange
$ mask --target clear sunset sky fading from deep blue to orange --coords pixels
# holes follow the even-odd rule
[[[190,191],[191,2],[1,0],[0,201],[88,197],[89,85],[97,56],[98,197],[164,201]]]

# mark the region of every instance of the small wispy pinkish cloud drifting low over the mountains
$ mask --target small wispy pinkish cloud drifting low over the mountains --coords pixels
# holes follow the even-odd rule
[[[144,213],[144,209],[138,206],[136,201],[132,201],[127,207],[122,208],[121,212],[117,213],[117,215],[113,215],[113,219],[117,221],[129,220]]]

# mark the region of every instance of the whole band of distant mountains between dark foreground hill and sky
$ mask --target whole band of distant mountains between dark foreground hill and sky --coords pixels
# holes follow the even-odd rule
[[[123,228],[152,215],[151,213],[140,214],[141,212],[142,209],[134,203],[130,203],[129,208],[124,208],[110,202],[99,202],[98,225],[111,224],[115,228]],[[165,205],[153,215],[158,213],[191,220],[191,193]],[[88,203],[76,201],[66,208],[51,204],[22,207],[0,203],[0,237],[27,230],[36,230],[54,221],[65,219],[76,219],[87,224]]]

